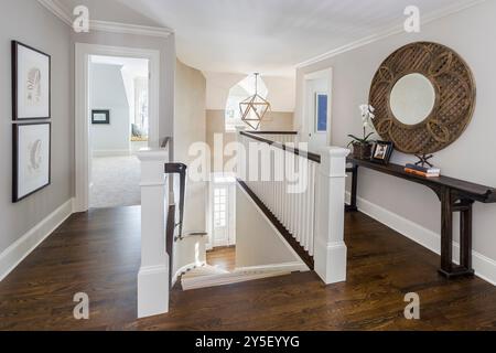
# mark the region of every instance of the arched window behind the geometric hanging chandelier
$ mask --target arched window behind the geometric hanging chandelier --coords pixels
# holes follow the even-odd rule
[[[269,90],[261,77],[258,77],[258,94],[267,99]],[[236,127],[245,126],[241,121],[239,104],[255,95],[255,75],[247,76],[229,90],[226,103],[226,131],[236,131]]]

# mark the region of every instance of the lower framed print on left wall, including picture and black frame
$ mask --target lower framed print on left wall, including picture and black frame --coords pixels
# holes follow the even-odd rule
[[[51,184],[51,122],[15,124],[13,126],[14,203]]]

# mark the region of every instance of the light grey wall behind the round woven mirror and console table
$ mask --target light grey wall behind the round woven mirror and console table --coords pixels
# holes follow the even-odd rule
[[[488,57],[496,56],[496,46],[484,33],[496,33],[496,1],[486,1],[462,12],[422,26],[419,34],[397,34],[366,46],[346,52],[298,71],[298,93],[301,96],[306,73],[333,67],[332,145],[346,146],[348,133],[360,133],[358,106],[368,101],[370,83],[380,63],[398,47],[416,41],[433,41],[452,47],[472,67],[477,83],[477,106],[464,135],[445,150],[435,153],[433,162],[445,175],[496,186],[496,164],[489,162],[496,140],[496,99],[494,81],[496,66]],[[302,104],[296,104],[296,126],[302,119]],[[393,162],[416,160],[396,153]],[[403,234],[439,249],[441,206],[429,189],[385,174],[363,170],[359,196],[362,206]],[[496,260],[496,205],[476,204],[474,212],[474,249]],[[496,281],[496,265],[478,256],[476,269]],[[483,265],[481,265],[483,264]],[[486,270],[482,267],[486,266]]]

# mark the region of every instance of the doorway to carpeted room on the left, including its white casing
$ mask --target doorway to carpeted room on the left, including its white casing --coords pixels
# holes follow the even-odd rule
[[[74,208],[139,204],[133,154],[159,147],[160,53],[77,43],[75,60]]]

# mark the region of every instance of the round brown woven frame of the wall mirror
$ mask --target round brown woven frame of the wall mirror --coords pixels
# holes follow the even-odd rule
[[[432,83],[435,104],[423,121],[405,125],[392,114],[390,95],[399,79],[414,73]],[[374,125],[384,140],[395,142],[405,153],[428,154],[446,148],[465,131],[475,96],[474,77],[460,55],[441,44],[418,42],[397,50],[380,65],[369,101],[376,108]]]

